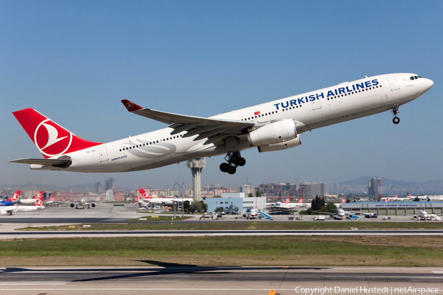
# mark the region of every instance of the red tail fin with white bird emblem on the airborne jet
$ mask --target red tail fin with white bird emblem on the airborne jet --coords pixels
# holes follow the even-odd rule
[[[12,114],[45,158],[99,145],[74,135],[34,109],[24,109]]]

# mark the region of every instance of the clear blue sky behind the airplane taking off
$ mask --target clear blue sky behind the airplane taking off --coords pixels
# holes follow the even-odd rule
[[[202,184],[443,178],[442,12],[442,1],[0,1],[0,183],[192,185],[186,163],[122,174],[8,163],[42,157],[13,111],[31,107],[109,142],[166,127],[121,99],[209,117],[396,72],[434,81],[400,108],[400,124],[385,112],[303,133],[296,148],[252,148],[235,176],[212,157]]]

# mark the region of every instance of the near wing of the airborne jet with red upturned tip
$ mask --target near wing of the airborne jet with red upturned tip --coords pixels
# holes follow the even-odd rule
[[[186,131],[187,133],[183,137],[198,135],[194,141],[207,138],[205,145],[228,136],[247,134],[249,128],[255,124],[253,121],[194,117],[155,111],[142,108],[127,99],[122,100],[122,103],[131,113],[170,124],[169,127],[175,129],[171,135]]]

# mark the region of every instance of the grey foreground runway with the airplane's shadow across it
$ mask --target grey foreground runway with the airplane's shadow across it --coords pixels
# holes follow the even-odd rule
[[[160,266],[3,268],[0,294],[293,295],[305,294],[302,288],[328,288],[308,294],[329,295],[403,294],[391,293],[391,288],[443,290],[443,268],[437,267],[200,267],[146,262]],[[340,288],[357,289],[340,292]],[[371,288],[388,292],[370,292]]]

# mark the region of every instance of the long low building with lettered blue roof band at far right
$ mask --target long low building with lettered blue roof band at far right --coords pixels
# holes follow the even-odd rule
[[[356,202],[344,203],[345,211],[356,214],[377,213],[379,215],[417,215],[425,210],[428,214],[443,214],[443,202]]]

